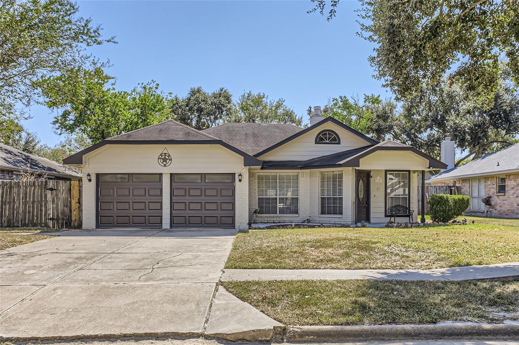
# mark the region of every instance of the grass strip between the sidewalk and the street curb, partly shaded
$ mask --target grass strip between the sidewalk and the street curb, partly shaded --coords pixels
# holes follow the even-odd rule
[[[287,325],[499,322],[519,316],[519,282],[298,280],[224,282]]]

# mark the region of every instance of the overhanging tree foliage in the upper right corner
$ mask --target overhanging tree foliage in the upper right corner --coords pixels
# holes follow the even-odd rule
[[[312,0],[321,14],[338,1]],[[503,58],[519,84],[519,7],[515,0],[361,0],[359,35],[376,45],[370,63],[399,99],[447,76],[487,106]]]

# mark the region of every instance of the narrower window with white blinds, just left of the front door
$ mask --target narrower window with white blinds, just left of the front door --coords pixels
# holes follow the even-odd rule
[[[320,172],[321,214],[343,214],[343,172]]]

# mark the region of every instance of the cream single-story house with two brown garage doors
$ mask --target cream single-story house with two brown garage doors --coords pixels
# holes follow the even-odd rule
[[[167,120],[63,162],[83,168],[84,228],[379,223],[395,204],[417,220],[417,173],[446,168],[414,147],[324,118],[320,107],[307,128],[225,123],[198,131]]]

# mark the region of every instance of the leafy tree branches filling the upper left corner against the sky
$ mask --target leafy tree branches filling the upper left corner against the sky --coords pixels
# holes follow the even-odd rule
[[[3,0],[0,5],[0,114],[20,113],[39,95],[39,81],[97,63],[84,48],[114,42],[77,16],[69,0]],[[3,120],[4,121],[4,120]]]

